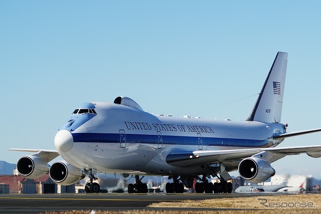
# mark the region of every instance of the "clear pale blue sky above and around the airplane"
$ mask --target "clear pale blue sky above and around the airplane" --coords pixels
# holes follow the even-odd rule
[[[321,127],[319,8],[317,1],[0,1],[0,159],[28,154],[12,147],[55,149],[58,128],[86,101],[128,96],[150,113],[181,115],[259,93],[278,51],[289,53],[281,121],[288,131]],[[245,120],[255,100],[193,114]],[[320,145],[320,136],[281,146]],[[320,163],[302,154],[272,166],[321,178]]]

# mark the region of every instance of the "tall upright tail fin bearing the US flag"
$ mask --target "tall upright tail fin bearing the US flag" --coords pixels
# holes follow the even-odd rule
[[[287,53],[278,52],[247,121],[280,122],[286,65]]]

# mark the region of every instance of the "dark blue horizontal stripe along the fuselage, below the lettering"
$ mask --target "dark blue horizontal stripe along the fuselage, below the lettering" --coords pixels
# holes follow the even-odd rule
[[[120,143],[118,133],[71,133],[74,142],[88,143]],[[163,135],[163,144],[199,145],[199,138],[190,136]],[[236,146],[236,147],[267,147],[270,141],[202,137],[203,146]],[[126,143],[158,144],[157,135],[126,134]]]

